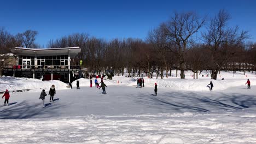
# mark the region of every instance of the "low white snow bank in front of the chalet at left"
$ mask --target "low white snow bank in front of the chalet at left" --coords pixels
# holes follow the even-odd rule
[[[55,85],[56,89],[67,89],[67,84],[61,81],[41,81],[38,79],[28,79],[23,77],[1,77],[0,78],[0,91],[8,89],[11,91],[23,89],[49,89],[51,85]]]

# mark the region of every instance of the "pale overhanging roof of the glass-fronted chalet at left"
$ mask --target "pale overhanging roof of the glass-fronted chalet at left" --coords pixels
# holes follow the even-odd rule
[[[80,47],[64,47],[64,48],[53,48],[53,49],[30,49],[25,47],[14,47],[11,48],[11,52],[15,55],[22,56],[59,56],[69,55],[74,57],[81,51]]]

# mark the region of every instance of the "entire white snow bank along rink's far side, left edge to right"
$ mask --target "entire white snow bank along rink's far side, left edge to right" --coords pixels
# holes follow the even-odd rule
[[[172,75],[174,71],[172,71]],[[176,73],[175,73],[176,74]],[[146,87],[154,87],[154,83],[158,83],[159,88],[172,88],[177,90],[184,91],[209,91],[206,87],[210,81],[213,82],[213,90],[220,91],[230,87],[245,86],[247,79],[251,80],[251,85],[256,85],[256,75],[252,73],[246,73],[243,75],[243,72],[237,71],[236,74],[232,72],[224,72],[218,75],[217,80],[211,80],[211,77],[206,77],[207,74],[210,75],[210,71],[203,71],[199,74],[199,79],[194,80],[191,76],[190,71],[185,71],[186,79],[179,79],[176,76],[170,76],[164,79],[148,79],[144,77],[144,85]],[[204,75],[204,76],[202,76]],[[221,80],[224,77],[224,80]],[[92,86],[95,86],[95,78],[92,79]],[[97,79],[98,82],[101,79]],[[80,87],[89,87],[90,79],[79,79]],[[113,80],[103,80],[107,86],[137,86],[137,77],[125,77],[125,76],[113,76]],[[72,85],[75,87],[77,84],[76,81],[72,82]],[[51,85],[55,85],[56,89],[67,89],[67,84],[61,81],[40,81],[38,79],[26,79],[18,77],[1,77],[0,78],[0,91],[5,91],[9,89],[10,91],[20,90],[20,89],[48,89]]]

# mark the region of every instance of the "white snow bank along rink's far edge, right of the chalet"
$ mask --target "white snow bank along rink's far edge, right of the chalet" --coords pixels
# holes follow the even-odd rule
[[[187,72],[187,71],[186,71]],[[213,90],[214,91],[221,91],[226,88],[230,87],[237,87],[237,86],[245,86],[245,83],[247,79],[251,80],[251,85],[256,85],[256,75],[252,73],[247,73],[247,75],[243,75],[242,72],[233,75],[233,73],[229,72],[222,72],[219,74],[219,76],[225,77],[224,80],[217,79],[212,80],[211,77],[205,77],[207,75],[207,71],[203,71],[199,75],[199,79],[193,79],[190,75],[190,72],[187,72],[186,79],[179,79],[179,77],[164,77],[164,79],[156,79],[156,77],[153,77],[153,79],[148,79],[148,77],[144,78],[144,85],[146,87],[154,87],[155,83],[158,83],[158,87],[162,88],[173,88],[177,90],[184,90],[184,91],[209,91],[209,88],[207,85],[210,83],[210,81],[213,82]],[[204,74],[204,77],[202,75]],[[118,85],[127,85],[127,86],[137,86],[137,78],[131,78],[131,77],[125,77],[125,76],[113,76],[113,80],[103,80],[104,83],[107,86],[118,86]],[[94,80],[92,79],[92,85],[94,86]],[[101,81],[101,79],[97,79],[98,82]],[[90,79],[79,79],[80,86],[89,87],[90,86]],[[254,82],[255,81],[255,82]],[[72,85],[76,86],[76,81],[72,83]]]

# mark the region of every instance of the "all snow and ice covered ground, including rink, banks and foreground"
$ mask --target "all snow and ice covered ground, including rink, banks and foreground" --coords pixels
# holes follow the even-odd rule
[[[0,143],[256,143],[256,75],[221,72],[225,80],[214,80],[212,92],[210,77],[189,75],[144,77],[144,88],[114,76],[104,80],[106,95],[88,79],[80,79],[81,89],[68,89],[60,81],[1,78],[1,91],[32,90],[10,93],[9,106],[0,100]],[[46,96],[43,108],[40,91],[52,84],[56,101]]]

